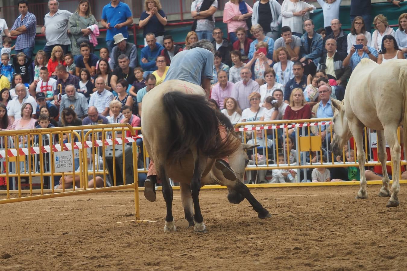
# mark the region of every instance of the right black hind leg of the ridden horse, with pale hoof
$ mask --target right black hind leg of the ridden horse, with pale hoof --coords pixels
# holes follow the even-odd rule
[[[199,206],[199,191],[201,190],[201,178],[206,166],[206,158],[200,157],[198,154],[195,158],[194,174],[191,180],[191,195],[194,202],[194,231],[206,232],[206,226],[204,224],[204,217],[201,214],[201,207]]]

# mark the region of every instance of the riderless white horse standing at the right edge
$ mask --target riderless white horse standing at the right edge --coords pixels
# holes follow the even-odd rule
[[[407,60],[397,59],[379,65],[368,58],[362,59],[350,76],[344,100],[340,104],[333,102],[333,105],[338,111],[333,117],[335,133],[331,150],[340,155],[352,135],[356,142],[361,177],[356,198],[368,197],[364,168],[366,154],[361,134],[366,126],[377,131],[377,153],[383,170],[379,197],[390,197],[385,142],[390,146],[393,185],[386,207],[398,206],[401,147],[397,128],[400,125],[407,127]],[[403,134],[403,143],[407,146],[407,132]]]

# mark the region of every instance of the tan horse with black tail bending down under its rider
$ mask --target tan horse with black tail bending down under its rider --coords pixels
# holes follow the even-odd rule
[[[210,108],[204,89],[189,82],[168,80],[144,96],[142,115],[144,144],[162,181],[166,201],[164,231],[175,231],[169,178],[180,183],[185,218],[197,232],[206,232],[199,206],[199,190],[205,184],[228,186],[230,202],[239,203],[246,198],[259,218],[271,217],[240,181],[248,162],[246,150],[257,145],[241,144],[230,132],[221,139],[217,115]],[[226,156],[238,180],[225,179],[214,166],[216,158]]]

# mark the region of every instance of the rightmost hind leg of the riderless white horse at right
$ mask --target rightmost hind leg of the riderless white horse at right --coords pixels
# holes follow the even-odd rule
[[[390,197],[389,202],[386,207],[397,207],[400,204],[398,200],[398,192],[400,191],[400,152],[401,147],[397,139],[397,126],[386,126],[385,127],[385,137],[390,146],[390,154],[392,155],[393,163],[393,185],[392,185],[392,197]]]

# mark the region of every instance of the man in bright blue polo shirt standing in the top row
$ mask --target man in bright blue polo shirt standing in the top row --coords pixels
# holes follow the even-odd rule
[[[127,26],[133,24],[133,16],[131,15],[129,6],[119,0],[112,0],[103,7],[101,24],[107,28],[107,49],[109,49],[109,52],[112,52],[114,35],[122,33],[125,38],[129,37]]]

